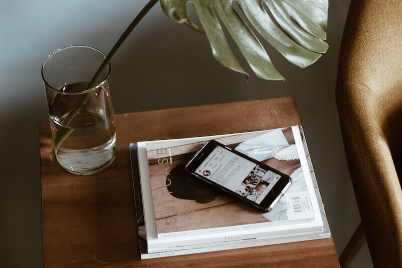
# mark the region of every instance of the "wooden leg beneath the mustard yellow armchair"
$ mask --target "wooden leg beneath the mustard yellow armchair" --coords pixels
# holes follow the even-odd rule
[[[364,234],[363,225],[360,222],[352,238],[350,238],[348,244],[339,257],[339,263],[341,264],[342,268],[346,268],[349,266],[349,264],[352,262],[352,260],[357,255],[360,248],[364,245],[365,242],[366,235]]]

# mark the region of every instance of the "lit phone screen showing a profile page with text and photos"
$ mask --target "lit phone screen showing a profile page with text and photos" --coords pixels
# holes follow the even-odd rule
[[[260,204],[281,175],[217,146],[195,173]]]

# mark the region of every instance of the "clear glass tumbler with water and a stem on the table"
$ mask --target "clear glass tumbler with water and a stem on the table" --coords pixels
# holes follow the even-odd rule
[[[105,58],[92,47],[68,46],[50,54],[42,65],[54,153],[74,174],[99,172],[115,159],[110,64],[96,86],[87,88]]]

